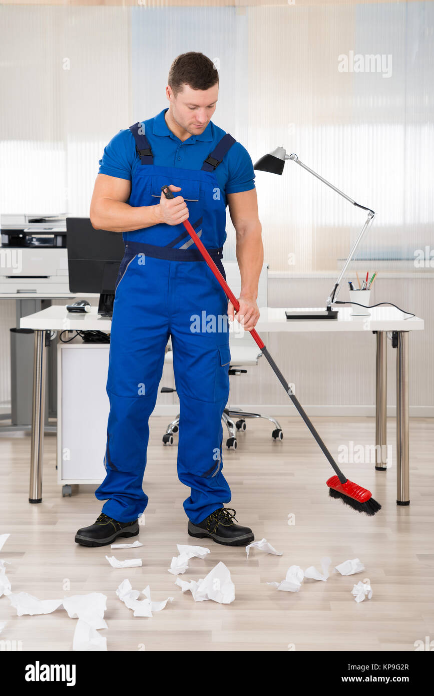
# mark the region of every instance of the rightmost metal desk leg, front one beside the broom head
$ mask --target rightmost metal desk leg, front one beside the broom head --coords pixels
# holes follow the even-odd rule
[[[396,504],[410,505],[408,331],[398,332],[396,349]]]

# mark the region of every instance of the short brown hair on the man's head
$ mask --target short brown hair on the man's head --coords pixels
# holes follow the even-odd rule
[[[207,90],[218,84],[218,72],[214,63],[203,53],[194,51],[177,56],[170,65],[168,77],[168,85],[175,97],[184,84],[200,90]]]

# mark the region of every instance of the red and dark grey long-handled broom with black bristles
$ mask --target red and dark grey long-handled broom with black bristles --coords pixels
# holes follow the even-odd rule
[[[170,191],[168,186],[161,187],[161,191],[163,191],[166,198],[175,198],[175,196],[173,195],[172,191]],[[188,220],[184,220],[184,222],[182,224],[186,228],[190,237],[193,239],[193,242],[195,242],[195,245],[198,247],[200,253],[202,254],[204,260],[207,262],[207,264],[208,264],[209,268],[211,269],[211,271],[213,272],[214,276],[216,276],[218,283],[220,283],[221,287],[223,287],[223,290],[225,291],[227,298],[230,299],[236,312],[238,312],[239,311],[239,301],[236,299],[236,297],[235,297],[234,293],[232,292],[232,290],[230,289],[229,285],[227,285],[225,278],[223,278],[222,274],[220,273],[220,271],[216,267],[216,264],[211,259],[211,256],[209,255],[206,248],[204,247],[204,245],[200,241],[195,230],[193,230],[193,227],[188,222]],[[289,398],[293,402],[294,406],[296,406],[298,413],[300,413],[300,416],[303,418],[303,420],[305,421],[305,424],[310,429],[310,432],[314,436],[316,442],[319,444],[321,450],[323,451],[323,454],[325,454],[325,457],[327,457],[330,465],[335,470],[336,475],[330,477],[327,481],[327,485],[328,485],[328,489],[329,489],[328,492],[329,492],[330,498],[339,498],[340,500],[342,500],[343,503],[345,503],[346,505],[349,505],[354,510],[357,510],[357,512],[364,512],[365,514],[367,514],[369,516],[376,514],[376,512],[378,512],[378,510],[381,509],[380,503],[377,503],[377,501],[373,499],[371,491],[368,491],[366,488],[362,488],[362,486],[359,486],[358,484],[353,483],[352,481],[348,480],[346,478],[346,476],[344,476],[344,474],[339,469],[339,466],[337,466],[332,455],[330,454],[328,449],[325,447],[325,444],[321,440],[321,437],[316,432],[316,429],[314,428],[314,425],[310,421],[310,418],[308,418],[307,413],[303,409],[303,406],[300,404],[300,402],[296,398],[296,395],[292,393],[291,387],[287,383],[286,379],[284,379],[282,372],[280,372],[278,366],[273,361],[273,358],[268,353],[268,350],[266,349],[264,341],[259,336],[257,331],[255,331],[255,329],[252,329],[250,331],[250,333],[252,335],[253,340],[255,340],[258,347],[261,349],[262,354],[266,357],[266,360],[271,365],[273,371],[275,372],[276,376],[278,377],[284,390],[289,395]]]

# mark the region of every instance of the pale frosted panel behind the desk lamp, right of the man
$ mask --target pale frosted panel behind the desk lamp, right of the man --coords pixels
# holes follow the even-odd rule
[[[249,10],[252,157],[284,145],[372,207],[361,258],[434,243],[433,25],[431,2]],[[271,267],[335,270],[363,213],[292,162],[257,189]]]

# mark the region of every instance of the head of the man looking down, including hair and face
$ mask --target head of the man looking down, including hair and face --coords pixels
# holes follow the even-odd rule
[[[218,72],[202,53],[183,53],[170,66],[166,96],[177,124],[191,135],[204,132],[216,111]]]

